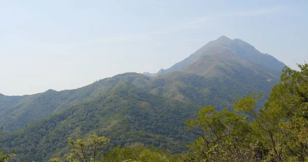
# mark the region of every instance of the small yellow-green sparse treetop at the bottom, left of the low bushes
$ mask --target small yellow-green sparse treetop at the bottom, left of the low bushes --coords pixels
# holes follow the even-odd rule
[[[99,161],[100,154],[103,149],[109,144],[109,139],[98,135],[90,135],[87,139],[87,143],[82,139],[76,139],[74,141],[68,138],[68,143],[72,147],[71,153],[67,154],[67,160],[70,162],[80,161]]]

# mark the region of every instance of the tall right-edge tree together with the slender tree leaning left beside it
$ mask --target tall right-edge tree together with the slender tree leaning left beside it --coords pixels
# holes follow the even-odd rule
[[[300,71],[285,67],[280,83],[275,85],[263,109],[256,107],[259,95],[235,100],[234,109],[253,120],[259,140],[270,151],[267,160],[308,160],[308,64]]]

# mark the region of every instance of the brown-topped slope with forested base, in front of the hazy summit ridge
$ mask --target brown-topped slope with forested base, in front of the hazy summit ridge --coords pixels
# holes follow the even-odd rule
[[[271,88],[279,82],[279,75],[248,62],[236,51],[222,46],[232,40],[220,39],[220,44],[211,42],[210,46],[201,48],[205,54],[194,63],[181,71],[157,76],[142,87],[153,94],[219,108],[230,106],[238,94],[256,92],[263,93],[266,98]],[[198,52],[195,54],[200,54]]]

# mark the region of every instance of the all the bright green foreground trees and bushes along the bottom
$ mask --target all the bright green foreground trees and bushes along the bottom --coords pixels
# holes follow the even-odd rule
[[[189,151],[185,154],[171,155],[167,150],[142,146],[117,146],[107,152],[89,153],[86,150],[93,150],[93,137],[97,139],[97,148],[109,143],[105,137],[91,136],[88,143],[69,138],[73,149],[66,155],[67,160],[308,161],[308,64],[299,67],[301,72],[290,68],[282,71],[281,83],[272,89],[260,111],[257,102],[263,95],[254,93],[238,96],[234,100],[234,111],[224,109],[219,112],[215,106],[201,109],[196,118],[186,121],[188,130],[195,131],[199,137],[188,145]],[[253,120],[249,122],[248,116]],[[54,158],[50,161],[62,160]]]

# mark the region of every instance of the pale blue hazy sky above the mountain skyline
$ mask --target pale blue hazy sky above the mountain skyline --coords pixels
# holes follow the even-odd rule
[[[297,69],[308,1],[0,0],[0,93],[75,89],[156,73],[225,35]]]

